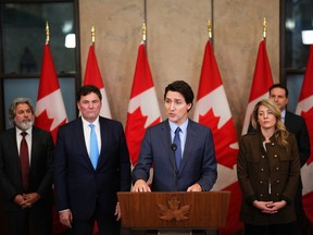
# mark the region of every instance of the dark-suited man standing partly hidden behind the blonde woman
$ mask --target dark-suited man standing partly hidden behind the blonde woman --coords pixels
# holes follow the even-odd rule
[[[302,116],[291,113],[286,110],[288,103],[288,89],[280,85],[274,84],[270,87],[270,99],[274,100],[281,112],[281,118],[288,132],[296,136],[301,168],[305,164],[311,154],[310,137],[306,128],[305,121]],[[252,125],[250,124],[248,132],[252,132]],[[302,181],[301,176],[298,184],[298,190],[295,198],[295,208],[297,215],[297,223],[295,224],[297,234],[302,234],[302,228],[306,223],[306,215],[302,206]]]

